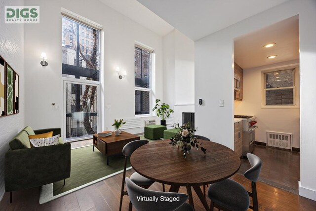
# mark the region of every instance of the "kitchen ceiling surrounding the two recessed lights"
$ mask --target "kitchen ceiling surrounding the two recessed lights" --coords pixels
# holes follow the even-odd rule
[[[248,69],[299,59],[298,24],[298,16],[294,16],[236,39],[235,62],[242,69]],[[270,42],[276,45],[263,47]],[[270,55],[277,56],[267,59]]]

